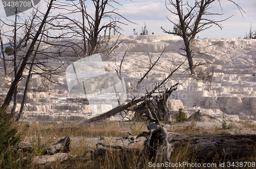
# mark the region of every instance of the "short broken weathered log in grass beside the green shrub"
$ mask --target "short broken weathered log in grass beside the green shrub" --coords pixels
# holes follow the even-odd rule
[[[37,143],[29,143],[29,142],[20,142],[17,146],[17,149],[14,150],[16,152],[23,151],[32,151],[33,148],[38,149]],[[61,138],[57,143],[54,144],[40,144],[40,148],[43,148],[42,154],[56,154],[56,153],[68,153],[70,151],[70,137],[66,136]]]

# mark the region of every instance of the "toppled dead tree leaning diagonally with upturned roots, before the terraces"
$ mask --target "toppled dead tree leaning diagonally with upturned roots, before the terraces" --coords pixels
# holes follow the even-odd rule
[[[164,50],[163,50],[164,52]],[[143,79],[148,75],[148,73],[150,73],[150,71],[153,69],[153,67],[157,64],[157,62],[159,61],[159,59],[161,58],[163,52],[161,53],[161,55],[158,57],[158,59],[156,60],[155,63],[152,63],[150,68],[147,70],[147,72],[141,77],[141,79],[138,81],[137,85],[130,91],[127,91],[126,93],[130,93],[132,91],[134,91],[136,88],[138,88],[140,86],[140,83],[143,81]],[[125,57],[125,54],[124,54]],[[186,60],[184,60],[185,62]],[[122,60],[123,62],[123,60]],[[120,76],[121,73],[121,65],[122,62],[120,64],[120,68],[119,70],[117,69],[117,74]],[[159,117],[160,119],[163,118],[167,113],[167,105],[166,105],[166,100],[168,99],[168,97],[172,94],[173,91],[177,90],[176,86],[178,85],[178,83],[176,83],[175,85],[169,87],[169,88],[165,88],[164,90],[160,90],[160,88],[164,88],[164,85],[166,85],[166,83],[168,82],[169,78],[173,75],[173,73],[175,73],[178,69],[180,69],[180,67],[184,64],[181,63],[178,67],[174,67],[173,69],[171,68],[172,72],[170,72],[170,74],[161,82],[159,83],[155,83],[155,88],[138,98],[133,98],[129,103],[124,104],[124,105],[119,105],[107,112],[104,112],[101,115],[98,115],[96,117],[93,117],[91,119],[88,120],[84,120],[81,122],[81,124],[83,123],[91,123],[91,122],[95,122],[95,121],[99,121],[99,120],[104,120],[107,118],[110,118],[116,114],[118,114],[119,112],[123,111],[123,110],[127,110],[127,111],[133,111],[133,112],[143,112],[145,110],[147,110],[147,107],[150,106],[153,109],[158,109],[160,111],[160,113],[158,115],[155,116]],[[172,65],[173,66],[173,65]],[[158,95],[159,93],[159,95]],[[148,102],[148,99],[151,99],[150,102]],[[152,102],[152,99],[155,100],[155,102]],[[155,112],[155,111],[154,111]],[[163,116],[161,116],[160,114],[162,114]],[[160,115],[160,116],[159,116]]]

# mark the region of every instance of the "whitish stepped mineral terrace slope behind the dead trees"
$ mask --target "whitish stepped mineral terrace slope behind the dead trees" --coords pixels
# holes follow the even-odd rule
[[[112,36],[114,42],[117,36]],[[69,40],[70,42],[71,40]],[[115,52],[107,56],[102,54],[102,63],[105,71],[115,72],[119,67],[124,52],[127,50],[122,63],[122,73],[126,90],[132,89],[137,84],[136,80],[147,71],[150,66],[149,57],[154,62],[164,50],[158,64],[154,67],[147,79],[140,88],[127,95],[128,99],[134,96],[142,96],[153,88],[154,82],[159,82],[167,77],[170,67],[178,66],[185,60],[185,57],[178,53],[182,52],[181,38],[176,36],[163,35],[137,35],[121,36],[122,41]],[[67,41],[54,42],[68,44]],[[72,40],[78,43],[79,40]],[[256,118],[256,40],[253,39],[197,39],[191,49],[194,53],[194,63],[208,62],[210,65],[203,65],[196,68],[199,76],[211,72],[214,68],[212,90],[204,85],[203,80],[196,80],[188,71],[186,63],[182,69],[176,72],[168,81],[166,86],[180,82],[178,90],[173,93],[171,99],[182,101],[188,112],[195,112],[197,109],[205,111],[212,116],[221,117],[221,110],[225,107],[226,113],[235,120],[255,120]],[[58,57],[67,66],[77,61],[71,47],[61,48],[51,45],[41,45],[42,51],[59,51]],[[24,54],[22,52],[20,55]],[[38,59],[44,60],[44,55],[38,55]],[[8,59],[11,59],[9,57]],[[49,65],[56,66],[59,63],[48,58]],[[3,68],[3,63],[0,63]],[[184,72],[185,71],[185,72]],[[4,77],[4,70],[0,69],[0,92],[2,98],[8,92],[11,77]],[[11,69],[9,69],[11,72]],[[88,98],[84,95],[69,94],[65,72],[62,75],[54,76],[53,81],[61,83],[60,86],[45,81],[44,78],[35,75],[30,82],[25,114],[26,121],[62,121],[82,120],[92,117],[92,102],[89,105]],[[19,83],[18,102],[22,100],[25,81]],[[99,111],[112,108],[111,104],[96,103]],[[19,110],[17,106],[16,111]]]

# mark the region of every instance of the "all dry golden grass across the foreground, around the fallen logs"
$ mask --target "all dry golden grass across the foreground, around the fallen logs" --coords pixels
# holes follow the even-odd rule
[[[97,122],[86,125],[73,126],[71,123],[30,123],[29,127],[25,124],[20,127],[20,130],[25,130],[24,140],[28,142],[38,142],[40,138],[41,143],[51,143],[55,139],[69,135],[71,137],[71,154],[83,154],[86,150],[94,149],[96,143],[102,142],[110,145],[118,145],[116,138],[128,135],[127,132],[131,132],[134,135],[146,130],[145,122]],[[256,129],[256,125],[242,123],[247,128]],[[73,126],[73,127],[71,127]],[[236,127],[236,126],[235,126]],[[179,123],[173,124],[167,129],[171,132],[180,132],[188,134],[220,134],[228,133],[229,130],[222,130],[218,126],[211,128],[200,127],[197,122]],[[237,129],[236,129],[237,130]],[[99,140],[99,136],[105,136],[107,139]],[[129,146],[129,148],[142,149],[143,140]],[[127,146],[127,145],[125,145]],[[179,161],[190,161],[194,159],[188,159],[189,145],[186,147],[176,147],[170,159],[173,163]],[[135,152],[120,154],[120,151],[113,151],[110,149],[104,156],[97,159],[84,161],[81,158],[70,159],[62,163],[48,164],[47,167],[53,166],[54,168],[135,168],[138,163],[138,155]],[[227,159],[225,159],[227,160]],[[231,159],[230,159],[231,160]],[[250,159],[246,161],[255,161],[254,155],[251,155]],[[152,168],[148,166],[150,159],[147,159],[143,168]],[[196,161],[195,161],[196,162]],[[215,161],[211,161],[215,162]],[[30,168],[38,168],[38,166],[31,166]],[[158,168],[158,167],[155,167]],[[180,167],[177,167],[180,168]],[[188,167],[189,168],[189,167]],[[193,167],[191,167],[193,168]],[[218,168],[218,167],[217,167]]]

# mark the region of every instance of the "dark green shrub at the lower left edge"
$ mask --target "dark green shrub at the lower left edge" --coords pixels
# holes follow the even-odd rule
[[[11,117],[0,107],[0,168],[15,168],[18,156],[12,149],[20,139],[21,135],[18,134]]]

